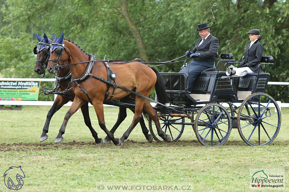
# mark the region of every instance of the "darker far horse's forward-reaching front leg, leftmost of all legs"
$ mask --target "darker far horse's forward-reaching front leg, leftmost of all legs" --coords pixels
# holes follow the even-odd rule
[[[50,110],[47,113],[46,116],[46,121],[42,130],[42,134],[40,137],[40,143],[47,140],[48,138],[48,128],[49,128],[49,124],[50,124],[50,120],[52,118],[52,116],[54,115],[54,113],[56,113],[64,104],[67,104],[67,102],[69,101],[69,99],[63,97],[62,95],[57,95],[52,107],[50,108]]]

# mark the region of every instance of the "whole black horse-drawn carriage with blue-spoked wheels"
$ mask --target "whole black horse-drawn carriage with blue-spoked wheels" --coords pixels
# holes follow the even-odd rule
[[[264,73],[232,76],[230,68],[219,71],[219,65],[236,64],[232,53],[222,53],[216,67],[204,70],[195,80],[193,90],[188,93],[186,73],[161,73],[169,97],[167,113],[158,113],[161,128],[177,141],[185,125],[192,126],[197,140],[205,146],[219,146],[228,140],[232,128],[250,146],[272,143],[281,126],[278,104],[265,93],[272,65],[272,56],[263,56]],[[226,74],[227,73],[227,74]],[[187,121],[185,121],[188,119]],[[189,122],[190,121],[190,122]],[[153,122],[149,130],[157,141]]]

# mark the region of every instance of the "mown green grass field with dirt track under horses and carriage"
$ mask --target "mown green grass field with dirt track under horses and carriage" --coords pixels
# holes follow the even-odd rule
[[[223,146],[212,148],[202,146],[187,125],[175,143],[148,143],[138,125],[124,147],[95,146],[81,112],[69,120],[64,141],[54,144],[69,107],[61,108],[53,116],[48,140],[39,143],[49,108],[0,110],[0,174],[21,165],[26,177],[19,191],[107,191],[97,189],[99,184],[190,186],[190,190],[179,191],[250,191],[252,169],[283,170],[285,190],[289,191],[289,109],[282,108],[281,130],[269,146],[247,146],[237,129],[233,129]],[[106,135],[98,126],[94,109],[90,107],[89,112],[93,128],[104,139]],[[104,112],[110,129],[117,120],[118,108],[105,107]],[[133,114],[127,113],[115,137],[120,138],[130,125]],[[3,177],[0,191],[11,191]]]

